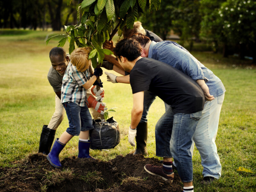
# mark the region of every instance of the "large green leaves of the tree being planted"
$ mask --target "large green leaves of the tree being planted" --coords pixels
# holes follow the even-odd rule
[[[68,5],[71,2],[72,0],[67,0]],[[84,0],[77,7],[78,24],[65,26],[66,34],[63,35],[66,36],[59,41],[58,46],[63,46],[68,39],[69,53],[76,46],[91,47],[89,59],[96,68],[97,58],[102,63],[105,54],[112,54],[111,51],[101,48],[102,43],[106,39],[111,40],[116,32],[121,36],[125,25],[133,28],[134,21],[140,13],[145,12],[147,4],[158,9],[160,0],[151,0],[151,4],[146,0]]]

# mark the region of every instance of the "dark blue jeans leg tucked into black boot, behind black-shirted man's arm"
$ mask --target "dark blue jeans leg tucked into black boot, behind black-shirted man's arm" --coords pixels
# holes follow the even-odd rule
[[[152,93],[150,91],[144,91],[143,113],[142,113],[140,122],[148,122],[148,119],[147,119],[148,110],[155,99],[156,99],[155,93]]]

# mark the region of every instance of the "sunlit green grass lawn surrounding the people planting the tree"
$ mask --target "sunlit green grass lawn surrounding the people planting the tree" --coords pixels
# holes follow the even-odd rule
[[[59,34],[61,34],[60,32]],[[49,51],[60,38],[46,46],[47,36],[57,32],[0,30],[0,166],[12,166],[28,154],[36,153],[44,124],[54,112],[54,95],[47,73],[51,65]],[[115,37],[117,39],[117,37]],[[116,41],[116,39],[114,39]],[[68,45],[64,47],[68,51]],[[256,70],[249,60],[222,58],[211,52],[192,52],[206,67],[222,80],[227,92],[220,115],[216,139],[222,176],[211,186],[200,184],[202,166],[195,149],[193,156],[195,191],[255,191],[256,188]],[[106,70],[104,70],[106,71]],[[128,142],[128,127],[132,109],[129,84],[112,84],[101,77],[105,89],[104,102],[116,108],[111,115],[119,123],[121,141],[114,149],[91,150],[95,158],[108,161],[116,155],[126,155],[134,148]],[[164,113],[164,104],[157,98],[148,114],[148,157],[155,156],[155,124]],[[68,126],[64,118],[56,131],[60,136]],[[77,156],[78,138],[68,142],[60,159]],[[251,172],[237,171],[244,167]]]

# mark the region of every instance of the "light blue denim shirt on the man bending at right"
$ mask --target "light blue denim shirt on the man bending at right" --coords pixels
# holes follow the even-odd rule
[[[214,97],[222,95],[226,90],[221,80],[191,55],[184,47],[172,42],[155,42],[149,46],[148,58],[162,61],[179,69],[194,81],[203,79]]]

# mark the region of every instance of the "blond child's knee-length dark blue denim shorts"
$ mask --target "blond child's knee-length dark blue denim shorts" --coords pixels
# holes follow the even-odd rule
[[[66,131],[70,135],[78,136],[80,131],[94,129],[92,125],[92,116],[87,105],[81,107],[74,102],[65,102],[62,104],[68,116],[69,127]]]

